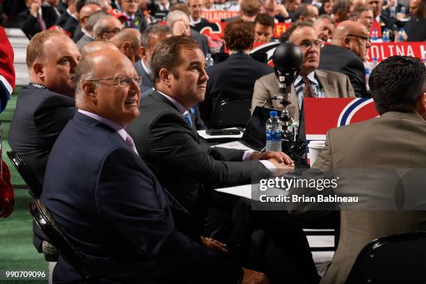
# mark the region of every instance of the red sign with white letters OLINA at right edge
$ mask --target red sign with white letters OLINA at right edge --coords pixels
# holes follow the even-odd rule
[[[394,55],[413,56],[424,60],[426,42],[374,42],[368,49],[368,61],[376,57],[380,62]]]

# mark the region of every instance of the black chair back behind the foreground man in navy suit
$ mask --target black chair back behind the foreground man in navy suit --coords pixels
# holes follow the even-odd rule
[[[61,253],[61,257],[84,276],[86,283],[98,283],[99,281],[91,274],[86,260],[72,246],[68,238],[65,237],[61,228],[59,228],[49,210],[42,204],[40,199],[36,199],[30,204],[30,212],[34,221],[42,229],[42,232],[45,233],[50,242]]]

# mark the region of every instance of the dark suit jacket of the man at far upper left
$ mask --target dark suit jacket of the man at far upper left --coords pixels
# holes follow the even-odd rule
[[[49,29],[56,22],[57,16],[52,7],[42,6],[42,19],[45,21],[46,29]],[[29,9],[24,10],[18,15],[19,28],[25,33],[25,36],[31,39],[36,33],[40,33],[41,27],[37,18],[30,14]]]

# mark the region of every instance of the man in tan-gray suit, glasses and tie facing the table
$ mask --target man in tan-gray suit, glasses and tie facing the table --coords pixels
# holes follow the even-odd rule
[[[339,72],[317,70],[321,47],[324,45],[318,39],[312,24],[301,22],[290,26],[285,32],[285,38],[300,47],[303,53],[303,63],[299,77],[292,84],[288,107],[290,116],[299,120],[299,111],[303,97],[355,97],[354,88],[348,77]],[[262,106],[265,100],[278,95],[278,79],[274,73],[260,77],[255,82],[252,111],[256,106]],[[283,109],[279,100],[268,101],[265,107]]]

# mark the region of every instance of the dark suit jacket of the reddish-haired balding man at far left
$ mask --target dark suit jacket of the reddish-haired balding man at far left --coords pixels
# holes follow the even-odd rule
[[[49,152],[75,111],[71,97],[31,85],[19,90],[8,142],[41,184]]]

